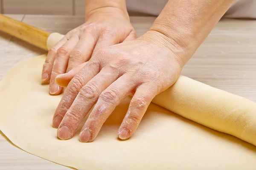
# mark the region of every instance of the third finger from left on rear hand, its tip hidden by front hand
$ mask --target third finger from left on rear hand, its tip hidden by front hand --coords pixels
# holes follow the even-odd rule
[[[86,62],[90,59],[93,48],[98,40],[99,30],[90,27],[84,27],[84,31],[81,31],[80,40],[75,48],[70,53],[70,59],[68,61],[67,72]]]

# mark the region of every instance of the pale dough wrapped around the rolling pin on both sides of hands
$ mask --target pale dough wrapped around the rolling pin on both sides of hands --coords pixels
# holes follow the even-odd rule
[[[52,33],[51,48],[64,35]],[[201,125],[256,145],[256,103],[188,77],[157,95],[153,103]]]

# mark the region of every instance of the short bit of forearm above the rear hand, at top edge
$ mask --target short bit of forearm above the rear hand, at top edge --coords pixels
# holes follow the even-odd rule
[[[119,14],[122,11],[126,17],[129,17],[125,0],[85,0],[85,19],[98,11],[103,11],[106,15],[115,12]]]

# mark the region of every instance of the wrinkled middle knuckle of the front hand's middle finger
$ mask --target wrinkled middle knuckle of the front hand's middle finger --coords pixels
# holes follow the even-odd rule
[[[80,93],[79,93],[84,99],[95,99],[98,94],[98,88],[97,85],[94,83],[85,85]]]

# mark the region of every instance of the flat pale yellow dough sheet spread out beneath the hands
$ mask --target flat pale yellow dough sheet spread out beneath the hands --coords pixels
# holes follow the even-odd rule
[[[21,149],[58,164],[87,170],[256,169],[255,146],[154,103],[149,105],[134,136],[119,141],[118,128],[130,98],[116,107],[94,142],[79,142],[78,133],[67,141],[57,139],[52,116],[61,96],[50,96],[48,85],[41,85],[45,57],[17,65],[0,82],[0,130]],[[182,85],[188,79],[180,80]],[[162,97],[166,96],[158,102],[164,106]]]

